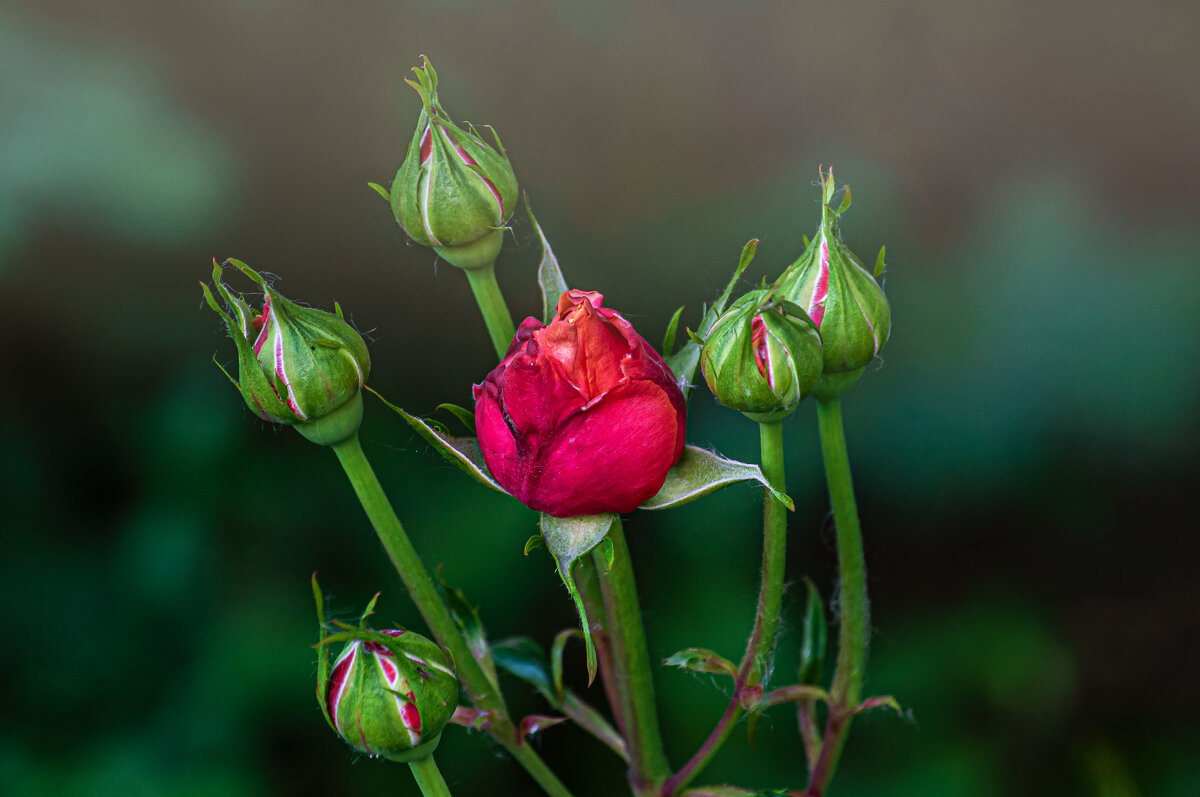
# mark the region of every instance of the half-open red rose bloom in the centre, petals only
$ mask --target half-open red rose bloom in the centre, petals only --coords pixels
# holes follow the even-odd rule
[[[492,477],[556,517],[628,513],[683,453],[686,405],[662,358],[595,292],[568,290],[546,326],[526,318],[475,385]]]

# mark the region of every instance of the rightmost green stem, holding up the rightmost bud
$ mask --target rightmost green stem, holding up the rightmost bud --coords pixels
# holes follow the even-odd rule
[[[841,617],[838,631],[838,670],[829,689],[829,719],[826,724],[821,755],[809,778],[808,793],[812,797],[824,793],[838,767],[842,745],[846,743],[846,731],[850,730],[850,720],[854,715],[863,691],[869,628],[863,533],[858,523],[854,483],[850,474],[839,397],[817,401],[817,425],[821,431],[821,455],[824,459],[829,501],[833,503],[833,519],[838,527],[838,592]]]

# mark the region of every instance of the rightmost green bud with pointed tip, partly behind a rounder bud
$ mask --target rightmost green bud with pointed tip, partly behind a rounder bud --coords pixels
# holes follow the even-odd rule
[[[850,208],[850,188],[836,210],[833,169],[821,175],[821,224],[804,254],[775,283],[779,295],[809,313],[821,330],[824,374],[818,396],[838,395],[875,359],[892,331],[892,311],[875,277],[841,240],[838,218]],[[883,252],[876,274],[883,272]]]

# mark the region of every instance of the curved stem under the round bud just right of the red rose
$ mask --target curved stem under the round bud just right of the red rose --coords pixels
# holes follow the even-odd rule
[[[784,490],[784,425],[782,421],[758,424],[758,441],[762,449],[762,473],[776,490]],[[784,598],[784,564],[787,558],[787,508],[775,501],[770,491],[763,489],[762,503],[762,586],[758,589],[758,609],[754,630],[746,641],[746,652],[738,667],[733,684],[733,696],[716,727],[679,772],[664,784],[662,793],[670,797],[684,789],[700,774],[721,749],[733,732],[733,726],[744,711],[742,700],[762,681],[767,663],[775,647],[779,630],[779,609]]]

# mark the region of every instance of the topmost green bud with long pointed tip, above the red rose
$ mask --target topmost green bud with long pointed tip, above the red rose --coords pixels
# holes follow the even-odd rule
[[[421,96],[416,133],[391,184],[391,212],[408,236],[462,269],[491,265],[516,209],[517,178],[492,130],[492,149],[474,125],[456,126],[438,103],[430,60],[406,82]],[[499,151],[497,151],[499,150]]]

